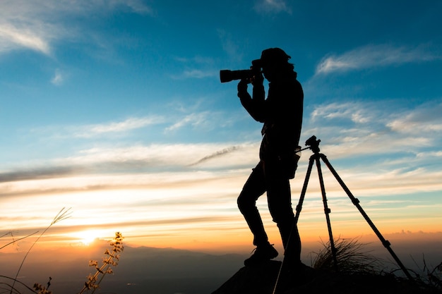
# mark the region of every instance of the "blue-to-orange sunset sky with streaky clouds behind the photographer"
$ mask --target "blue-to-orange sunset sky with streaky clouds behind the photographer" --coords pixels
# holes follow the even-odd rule
[[[381,233],[442,240],[441,10],[436,0],[0,0],[0,245],[36,237],[65,207],[42,247],[120,231],[132,246],[252,250],[237,196],[262,125],[219,71],[247,69],[270,47],[292,56],[304,88],[300,145],[321,140]],[[293,206],[311,154],[291,180]],[[373,234],[322,168],[333,233]],[[301,238],[327,240],[316,169],[308,187]],[[257,205],[280,246],[265,197]]]

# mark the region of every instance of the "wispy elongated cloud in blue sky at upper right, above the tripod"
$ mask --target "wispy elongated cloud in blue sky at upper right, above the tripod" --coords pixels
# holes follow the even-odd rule
[[[393,47],[392,45],[366,45],[347,51],[339,56],[330,55],[316,67],[316,75],[334,72],[357,71],[364,68],[390,66],[394,64],[419,61],[440,60],[440,54],[434,54],[424,47]]]

